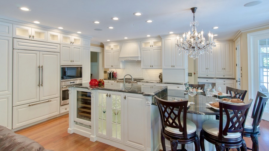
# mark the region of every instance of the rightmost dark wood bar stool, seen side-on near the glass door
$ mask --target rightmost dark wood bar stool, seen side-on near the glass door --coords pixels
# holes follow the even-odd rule
[[[258,91],[254,102],[253,112],[251,117],[247,117],[244,127],[244,137],[251,137],[252,141],[252,148],[247,148],[248,150],[259,150],[258,137],[261,135],[259,124],[262,121],[262,113],[267,101],[267,96]]]

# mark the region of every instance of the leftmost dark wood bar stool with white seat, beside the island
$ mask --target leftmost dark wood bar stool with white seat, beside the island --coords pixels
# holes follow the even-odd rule
[[[194,142],[195,151],[199,151],[200,144],[199,137],[196,134],[196,125],[187,120],[188,100],[166,101],[156,95],[154,97],[161,115],[161,144],[163,151],[166,151],[165,138],[170,141],[171,151],[176,151],[178,144],[182,144],[182,150],[185,150],[185,144],[192,142]],[[183,113],[183,118],[180,117],[181,113]]]

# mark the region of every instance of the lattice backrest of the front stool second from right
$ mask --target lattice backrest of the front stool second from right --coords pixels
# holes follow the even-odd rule
[[[223,101],[219,101],[219,135],[218,140],[222,141],[222,135],[227,136],[227,133],[241,132],[243,137],[244,125],[247,118],[247,113],[249,111],[250,105],[253,99],[250,99],[244,104],[231,104]],[[233,110],[233,114],[227,116],[227,121],[223,121],[223,110],[226,115],[229,115],[228,110]],[[226,122],[223,128],[223,122]]]

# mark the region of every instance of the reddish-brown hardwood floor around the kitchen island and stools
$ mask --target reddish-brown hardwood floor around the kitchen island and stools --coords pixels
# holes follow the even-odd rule
[[[68,114],[57,118],[18,130],[15,133],[25,135],[48,150],[55,151],[123,151],[119,148],[101,143],[99,141],[92,142],[89,138],[78,135],[69,134]],[[259,137],[259,150],[268,150],[269,148],[269,121],[262,120],[260,123],[261,136]],[[244,137],[247,147],[252,146],[250,138]],[[230,150],[236,151],[236,149]]]

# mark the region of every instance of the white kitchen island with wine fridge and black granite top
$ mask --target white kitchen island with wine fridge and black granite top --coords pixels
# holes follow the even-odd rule
[[[83,83],[68,90],[68,133],[123,150],[160,150],[160,118],[153,96],[163,98],[167,87]]]

